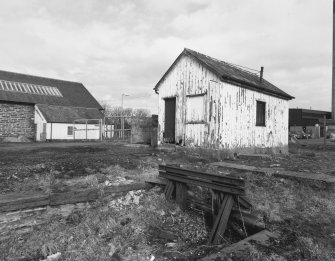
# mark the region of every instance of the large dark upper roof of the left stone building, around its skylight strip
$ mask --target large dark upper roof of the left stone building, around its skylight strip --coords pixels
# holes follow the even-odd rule
[[[0,70],[0,80],[56,87],[63,97],[0,90],[0,100],[102,109],[97,100],[79,82],[63,81]]]

